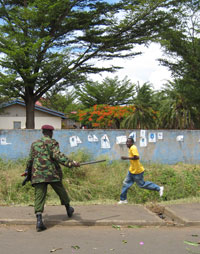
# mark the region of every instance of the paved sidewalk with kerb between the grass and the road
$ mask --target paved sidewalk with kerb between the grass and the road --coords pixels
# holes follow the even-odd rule
[[[74,205],[75,213],[68,218],[64,206],[46,206],[45,224],[62,226],[197,226],[200,225],[200,204],[178,204],[164,207],[166,219],[160,218],[143,205]],[[31,206],[0,206],[0,224],[35,225]]]

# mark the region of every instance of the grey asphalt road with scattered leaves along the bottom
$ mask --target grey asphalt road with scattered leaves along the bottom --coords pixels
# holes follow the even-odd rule
[[[117,228],[0,226],[1,254],[185,254],[200,253],[199,227]]]

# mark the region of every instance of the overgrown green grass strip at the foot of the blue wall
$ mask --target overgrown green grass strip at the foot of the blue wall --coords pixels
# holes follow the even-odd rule
[[[86,151],[69,156],[77,161],[93,158]],[[102,158],[99,158],[102,159]],[[105,158],[104,158],[105,159]],[[114,203],[119,200],[123,180],[129,167],[128,162],[109,161],[85,165],[80,168],[63,168],[63,184],[72,202]],[[144,190],[133,185],[128,191],[129,203],[143,204],[155,201],[170,201],[200,197],[199,165],[160,165],[144,164],[146,181],[164,185],[162,198],[157,192]],[[30,183],[21,186],[25,160],[0,160],[0,204],[34,204],[34,188]],[[49,187],[47,204],[59,204],[59,198]]]

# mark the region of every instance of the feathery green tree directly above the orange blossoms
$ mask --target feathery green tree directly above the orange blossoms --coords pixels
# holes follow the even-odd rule
[[[78,100],[86,107],[107,104],[111,106],[130,104],[134,93],[134,85],[124,78],[105,78],[101,83],[86,82],[76,91]]]

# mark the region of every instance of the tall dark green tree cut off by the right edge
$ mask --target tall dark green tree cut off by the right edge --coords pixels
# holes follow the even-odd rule
[[[161,45],[167,54],[160,59],[182,86],[181,94],[194,107],[200,109],[200,2],[190,1],[182,16],[180,25],[163,33]],[[175,86],[176,88],[176,86]]]

